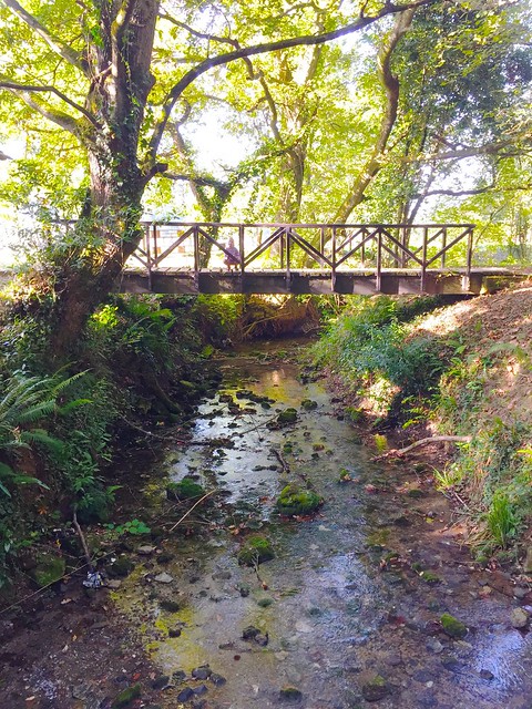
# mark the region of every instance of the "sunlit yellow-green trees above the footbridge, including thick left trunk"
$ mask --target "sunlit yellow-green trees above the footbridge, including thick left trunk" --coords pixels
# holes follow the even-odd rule
[[[79,219],[65,341],[174,185],[208,220],[526,217],[530,30],[510,0],[0,0],[0,138],[24,142],[0,197]]]

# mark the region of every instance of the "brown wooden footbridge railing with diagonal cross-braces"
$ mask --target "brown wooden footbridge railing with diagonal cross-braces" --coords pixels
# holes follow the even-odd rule
[[[233,238],[239,270],[315,269],[372,271],[377,287],[386,269],[417,271],[424,287],[429,269],[471,271],[473,224],[231,224],[144,223],[133,255],[149,275],[177,268],[198,274],[223,269]]]

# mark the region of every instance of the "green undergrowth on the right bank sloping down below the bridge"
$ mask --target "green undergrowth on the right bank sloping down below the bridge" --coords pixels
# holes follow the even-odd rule
[[[511,415],[488,417],[483,405],[507,357],[532,366],[522,347],[499,342],[475,351],[471,333],[464,340],[459,329],[423,333],[422,314],[437,305],[431,298],[358,299],[314,348],[314,363],[339,374],[374,423],[430,423],[439,433],[470,436],[434,472],[436,483],[464,501],[478,557],[498,549],[508,556],[532,522],[532,429]]]

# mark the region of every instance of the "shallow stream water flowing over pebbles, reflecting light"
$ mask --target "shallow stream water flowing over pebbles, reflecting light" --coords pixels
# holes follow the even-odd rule
[[[170,677],[164,707],[530,709],[531,636],[510,621],[530,596],[472,568],[430,467],[371,462],[323,382],[301,383],[291,363],[243,353],[222,369],[192,444],[168,458],[172,480],[217,491],[211,508],[165,544],[165,565],[147,558],[114,595]],[[288,407],[296,423],[268,428]],[[275,515],[293,481],[324,497],[314,517]],[[275,548],[258,569],[237,562],[249,530]],[[462,639],[442,630],[443,613],[466,624]],[[249,626],[260,635],[243,639]],[[206,665],[214,675],[192,679]]]

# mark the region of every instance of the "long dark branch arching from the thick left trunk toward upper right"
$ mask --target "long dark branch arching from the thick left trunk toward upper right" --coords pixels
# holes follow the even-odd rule
[[[183,92],[202,74],[214,69],[215,66],[221,66],[224,64],[228,64],[229,62],[234,62],[238,59],[245,59],[246,56],[253,56],[255,54],[265,54],[268,52],[278,51],[282,49],[290,49],[293,47],[314,47],[316,44],[325,44],[326,42],[330,42],[340,37],[345,37],[347,34],[351,34],[354,32],[358,32],[370,24],[374,24],[381,18],[388,14],[397,14],[398,12],[403,12],[408,9],[419,8],[422,6],[431,4],[434,0],[417,0],[416,2],[409,2],[405,4],[392,4],[387,2],[385,7],[372,17],[360,17],[355,22],[350,24],[346,24],[345,27],[338,28],[337,30],[332,30],[330,32],[324,32],[321,34],[306,34],[303,37],[293,37],[286,40],[278,40],[277,42],[267,42],[265,44],[256,44],[255,47],[247,47],[235,49],[233,52],[226,52],[225,54],[218,54],[217,56],[212,56],[209,59],[205,59],[203,62],[200,62],[197,66],[191,69],[186,72],[180,81],[173,86],[170,91],[166,102],[163,106],[163,115],[160,120],[158,124],[155,126],[153,131],[152,138],[150,141],[149,147],[149,158],[154,162],[158,146],[161,144],[161,140],[168,122],[170,115],[177,103],[178,99],[183,94]]]

